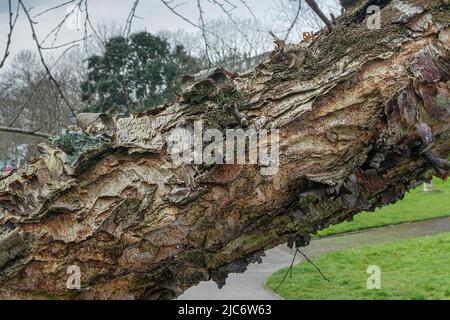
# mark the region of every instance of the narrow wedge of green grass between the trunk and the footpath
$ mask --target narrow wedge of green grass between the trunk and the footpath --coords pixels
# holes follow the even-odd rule
[[[404,222],[413,222],[450,216],[450,182],[434,179],[436,191],[424,193],[420,186],[406,194],[402,201],[377,209],[362,212],[352,222],[343,222],[318,233],[319,237],[332,234],[381,227]]]

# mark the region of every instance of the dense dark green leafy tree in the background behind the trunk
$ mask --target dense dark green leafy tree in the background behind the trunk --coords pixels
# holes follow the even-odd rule
[[[186,66],[181,67],[177,62]],[[178,48],[147,32],[113,37],[102,55],[88,59],[87,79],[81,84],[82,100],[89,111],[103,112],[114,105],[138,111],[172,97],[174,81],[192,63]]]

